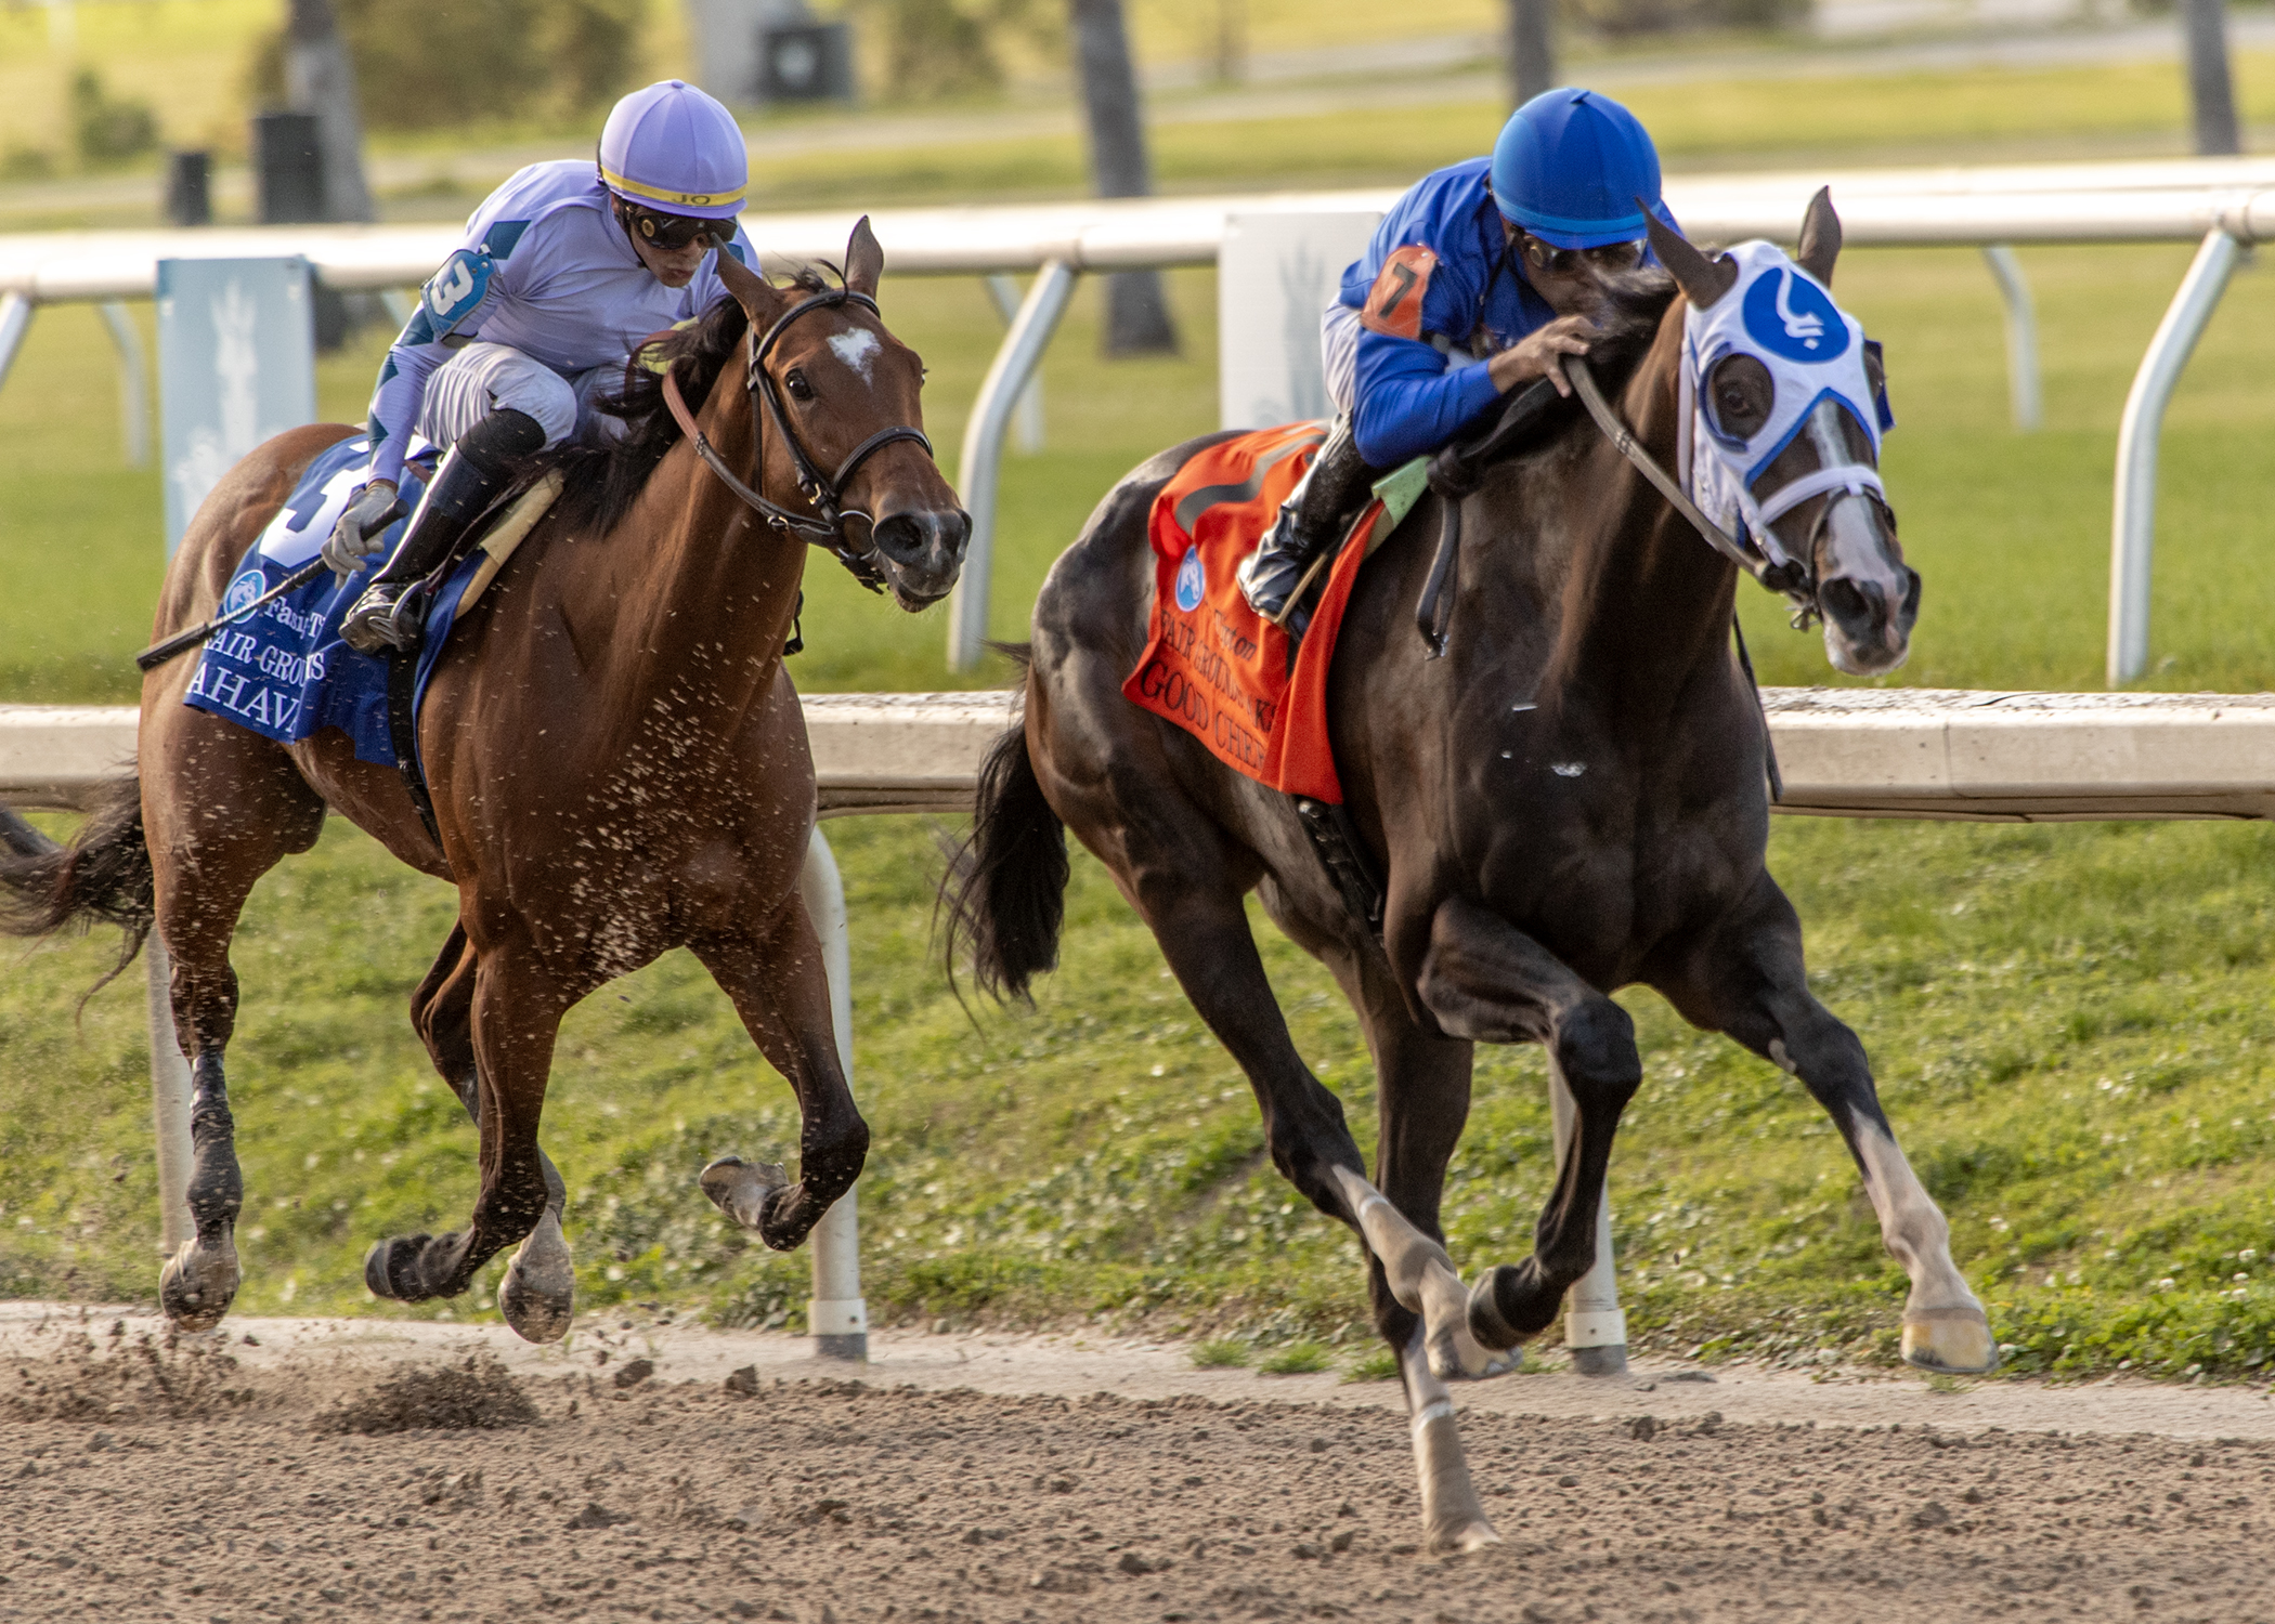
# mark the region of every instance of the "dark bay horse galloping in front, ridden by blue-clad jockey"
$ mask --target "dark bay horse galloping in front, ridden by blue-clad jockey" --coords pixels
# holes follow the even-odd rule
[[[1690,428],[1686,312],[1709,312],[1736,271],[1656,225],[1654,246],[1684,298],[1656,271],[1613,277],[1590,366],[1668,469]],[[1820,196],[1797,259],[1777,259],[1829,284],[1838,246]],[[1825,314],[1838,314],[1829,300]],[[1688,382],[1724,432],[1777,407],[1770,371],[1749,355]],[[1754,496],[1770,509],[1797,480],[1825,487],[1777,519],[1797,566],[1788,580],[1822,612],[1834,664],[1888,671],[1909,651],[1918,575],[1884,500],[1859,489],[1877,487],[1875,444],[1836,403],[1795,412],[1802,430]],[[981,985],[1024,994],[1058,955],[1065,828],[1108,867],[1247,1071],[1279,1171],[1367,1244],[1431,1547],[1497,1538],[1442,1381],[1481,1374],[1483,1349],[1542,1333],[1597,1258],[1613,1133],[1643,1078],[1633,1026],[1608,996],[1631,983],[1802,1078],[1847,1137],[1911,1274],[1906,1358],[1991,1367],[1988,1321],[1952,1267],[1943,1215],[1897,1151],[1863,1044],[1809,992],[1800,921],[1763,867],[1765,726],[1731,653],[1736,566],[1570,407],[1529,450],[1479,469],[1472,494],[1424,498],[1360,571],[1329,680],[1349,812],[1383,876],[1376,942],[1288,796],[1122,694],[1151,619],[1153,496],[1215,439],[1133,471],[1051,569],[1024,726],[987,760],[951,876],[949,955],[969,946]],[[1458,587],[1447,653],[1431,657],[1415,610],[1447,500],[1461,503]],[[1342,1103],[1288,1039],[1242,910],[1249,889],[1360,1014],[1381,1087],[1374,1183]],[[1531,1258],[1490,1269],[1472,1292],[1438,1212],[1476,1042],[1542,1044],[1577,1130]]]

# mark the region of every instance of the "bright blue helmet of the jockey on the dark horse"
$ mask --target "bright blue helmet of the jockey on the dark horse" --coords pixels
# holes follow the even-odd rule
[[[1542,91],[1492,143],[1492,202],[1552,248],[1604,248],[1645,234],[1636,198],[1658,200],[1658,148],[1643,123],[1595,91]]]

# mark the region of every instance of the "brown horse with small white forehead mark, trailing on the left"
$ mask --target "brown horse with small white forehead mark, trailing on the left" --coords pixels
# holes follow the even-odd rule
[[[523,1242],[498,1287],[507,1321],[530,1340],[569,1328],[564,1187],[537,1146],[553,1039],[578,999],[673,946],[719,980],[803,1112],[796,1183],[728,1162],[705,1171],[712,1199],[787,1251],[853,1185],[869,1128],[799,901],[814,771],[783,644],[803,537],[921,610],[956,585],[969,530],[917,430],[924,366],[876,314],[880,273],[867,221],[842,289],[812,273],[778,289],[719,255],[733,300],[655,350],[708,446],[676,428],[655,375],[632,373],[612,450],[539,459],[562,469],[564,496],[450,637],[419,716],[439,844],[403,778],[355,760],[339,730],[284,746],[187,707],[196,662],[182,660],[143,682],[139,780],[68,848],[0,867],[18,933],[155,921],[173,955],[196,1144],[196,1237],[159,1285],[175,1324],[212,1326],[239,1283],[230,935],[253,883],[307,851],[328,807],[460,894],[412,1019],[480,1126],[482,1187],[464,1231],[373,1246],[373,1292],[450,1296]],[[159,637],[214,614],[307,462],[353,432],[293,430],[237,464],[173,560]],[[730,471],[758,489],[737,496]],[[864,532],[830,523],[839,503]]]

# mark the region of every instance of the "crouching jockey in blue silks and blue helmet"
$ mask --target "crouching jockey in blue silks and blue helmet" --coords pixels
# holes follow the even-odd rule
[[[1342,416],[1240,566],[1258,614],[1288,614],[1381,469],[1476,428],[1520,384],[1572,391],[1556,357],[1588,353],[1597,275],[1649,257],[1636,198],[1674,223],[1652,136],[1608,96],[1561,89],[1524,102],[1490,157],[1424,175],[1392,205],[1322,323]]]

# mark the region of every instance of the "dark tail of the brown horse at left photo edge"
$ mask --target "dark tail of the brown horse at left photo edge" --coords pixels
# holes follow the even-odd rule
[[[14,812],[0,812],[0,933],[46,937],[66,926],[118,926],[118,962],[89,996],[134,962],[157,923],[150,842],[141,823],[141,780],[102,787],[80,832],[59,846]]]

